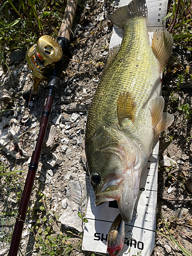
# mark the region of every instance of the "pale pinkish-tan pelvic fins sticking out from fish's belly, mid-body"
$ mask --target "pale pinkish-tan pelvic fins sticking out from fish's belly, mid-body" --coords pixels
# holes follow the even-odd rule
[[[162,96],[152,100],[152,127],[155,130],[155,134],[159,134],[166,130],[174,121],[174,116],[168,113],[163,113],[163,109],[164,99]]]

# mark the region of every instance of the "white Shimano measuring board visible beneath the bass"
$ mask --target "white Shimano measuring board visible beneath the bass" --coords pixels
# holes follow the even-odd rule
[[[130,0],[120,0],[119,7],[128,5]],[[146,1],[147,29],[150,42],[153,32],[162,29],[162,20],[166,16],[168,0]],[[123,30],[114,25],[110,48],[121,44]],[[155,245],[156,206],[157,206],[157,172],[159,159],[159,137],[154,139],[152,154],[144,166],[139,194],[135,204],[133,219],[125,223],[125,243],[119,255],[150,256]],[[82,249],[107,253],[106,240],[110,227],[119,214],[118,206],[113,202],[105,202],[95,206],[95,195],[91,189],[85,224]]]

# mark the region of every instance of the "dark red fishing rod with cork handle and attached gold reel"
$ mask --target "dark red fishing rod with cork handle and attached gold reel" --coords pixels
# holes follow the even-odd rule
[[[68,0],[63,16],[63,23],[61,24],[57,40],[52,36],[41,36],[38,39],[37,44],[32,46],[27,52],[26,59],[33,72],[34,81],[32,90],[25,93],[24,98],[27,100],[34,98],[37,94],[37,87],[40,80],[48,81],[47,98],[45,100],[44,110],[42,112],[39,130],[37,132],[38,137],[35,142],[35,148],[29,164],[28,175],[19,205],[18,216],[14,226],[8,256],[17,256],[41,149],[47,131],[53,99],[60,83],[63,56],[66,55],[67,57],[72,58],[69,51],[69,42],[77,3],[78,0]]]

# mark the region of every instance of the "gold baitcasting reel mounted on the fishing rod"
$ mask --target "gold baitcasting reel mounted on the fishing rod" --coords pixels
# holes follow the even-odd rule
[[[39,81],[47,81],[50,69],[62,57],[62,49],[52,36],[41,36],[36,45],[33,45],[26,55],[29,69],[33,72],[32,93],[37,94]]]

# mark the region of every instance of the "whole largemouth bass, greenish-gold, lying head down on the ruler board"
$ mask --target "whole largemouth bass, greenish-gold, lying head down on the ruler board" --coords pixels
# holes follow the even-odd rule
[[[123,221],[130,222],[154,137],[174,121],[163,112],[160,77],[173,37],[157,30],[150,46],[145,0],[133,0],[109,19],[123,29],[123,38],[92,99],[85,149],[95,205],[116,200]]]

